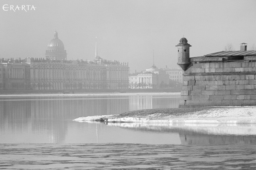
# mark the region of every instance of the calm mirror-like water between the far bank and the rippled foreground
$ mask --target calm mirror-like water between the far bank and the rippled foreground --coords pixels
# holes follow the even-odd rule
[[[256,124],[79,123],[82,116],[177,108],[177,96],[0,98],[0,143],[256,144]]]

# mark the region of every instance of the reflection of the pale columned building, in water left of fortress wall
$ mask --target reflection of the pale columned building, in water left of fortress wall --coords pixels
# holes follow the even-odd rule
[[[165,98],[162,96],[136,95],[129,96],[129,111],[154,109],[154,108],[177,108],[180,98]]]

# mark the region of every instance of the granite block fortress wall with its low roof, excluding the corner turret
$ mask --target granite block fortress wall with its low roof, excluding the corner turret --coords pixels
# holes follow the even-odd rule
[[[221,52],[178,62],[184,67],[179,108],[256,105],[256,51]]]

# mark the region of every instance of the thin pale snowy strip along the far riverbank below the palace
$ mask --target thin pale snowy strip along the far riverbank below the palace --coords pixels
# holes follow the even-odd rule
[[[180,92],[173,93],[88,93],[88,94],[1,94],[0,97],[29,97],[29,96],[130,96],[130,95],[172,95],[179,96]]]

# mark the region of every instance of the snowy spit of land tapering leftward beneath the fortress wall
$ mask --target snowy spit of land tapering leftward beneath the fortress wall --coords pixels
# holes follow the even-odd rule
[[[118,115],[88,116],[74,119],[79,122],[98,121],[106,118],[107,122],[140,122],[163,124],[248,124],[256,123],[256,106],[211,107],[199,109],[152,109],[130,111]]]

